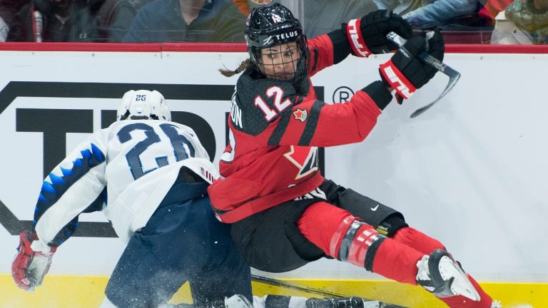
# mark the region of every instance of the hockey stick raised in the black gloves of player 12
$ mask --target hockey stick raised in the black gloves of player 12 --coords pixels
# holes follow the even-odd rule
[[[397,35],[395,32],[390,32],[387,34],[387,39],[394,42],[398,47],[402,48],[403,51],[409,53],[403,46],[406,39],[402,38],[401,36]],[[416,116],[420,115],[421,113],[427,111],[432,105],[434,105],[437,101],[440,101],[442,97],[445,96],[445,94],[449,93],[451,89],[457,84],[457,81],[459,81],[460,73],[455,71],[454,69],[450,68],[449,66],[442,63],[442,61],[438,60],[437,58],[434,58],[433,56],[430,56],[426,51],[422,51],[422,53],[419,54],[419,58],[422,61],[425,61],[425,63],[430,64],[433,68],[437,69],[438,71],[445,73],[449,77],[449,83],[447,83],[447,86],[445,86],[445,90],[438,96],[435,101],[432,103],[429,103],[427,106],[418,108],[414,113],[411,114],[410,118],[415,118]]]

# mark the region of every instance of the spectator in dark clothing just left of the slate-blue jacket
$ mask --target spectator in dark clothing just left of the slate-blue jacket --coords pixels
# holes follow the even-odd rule
[[[96,16],[98,37],[121,42],[141,6],[153,0],[106,0]]]

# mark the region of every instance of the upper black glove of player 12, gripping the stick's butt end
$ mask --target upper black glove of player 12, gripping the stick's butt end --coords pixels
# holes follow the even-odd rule
[[[404,39],[410,39],[413,35],[407,21],[386,10],[372,11],[361,19],[352,19],[348,24],[342,24],[342,31],[350,42],[352,54],[360,57],[395,51],[397,46],[386,38],[391,31]]]

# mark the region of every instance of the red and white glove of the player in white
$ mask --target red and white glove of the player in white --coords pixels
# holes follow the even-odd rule
[[[36,233],[24,230],[19,235],[19,252],[11,264],[11,276],[17,287],[26,291],[33,291],[35,287],[42,284],[44,276],[51,265],[51,257],[57,247],[51,247],[50,252],[35,252],[31,248],[32,241],[38,240]]]

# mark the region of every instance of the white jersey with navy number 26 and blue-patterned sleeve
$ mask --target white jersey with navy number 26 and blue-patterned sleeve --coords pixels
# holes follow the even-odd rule
[[[108,201],[104,198],[102,210],[118,237],[127,242],[146,225],[182,166],[208,183],[218,178],[208,153],[188,126],[123,120],[93,133],[44,180],[35,213],[39,240],[33,242],[33,250],[49,251],[48,243],[70,228],[69,222],[105,188]]]

